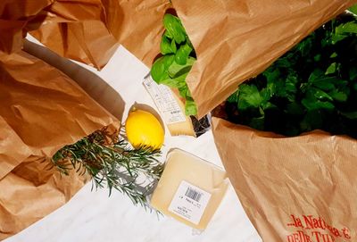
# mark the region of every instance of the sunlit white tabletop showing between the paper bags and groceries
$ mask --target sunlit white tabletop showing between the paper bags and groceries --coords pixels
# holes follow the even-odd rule
[[[154,102],[142,85],[149,69],[125,48],[120,46],[102,71],[95,71],[83,64],[80,66],[93,71],[120,94],[125,101],[123,121],[134,102],[154,107]],[[78,70],[76,73],[76,70],[76,67],[72,68],[71,74],[76,76],[83,72]],[[191,138],[170,137],[169,131],[166,130],[162,159],[172,147],[179,147],[222,166],[212,131],[200,138]],[[145,212],[142,207],[134,206],[127,196],[119,192],[113,192],[112,196],[108,197],[106,189],[91,191],[89,182],[68,204],[4,241],[259,242],[262,239],[245,215],[231,186],[208,228],[197,235],[193,229],[179,221],[157,217],[156,213]]]

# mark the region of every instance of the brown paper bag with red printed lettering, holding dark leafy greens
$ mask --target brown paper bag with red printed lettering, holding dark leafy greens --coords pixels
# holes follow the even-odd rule
[[[263,241],[357,241],[357,141],[295,138],[213,118],[220,158]]]

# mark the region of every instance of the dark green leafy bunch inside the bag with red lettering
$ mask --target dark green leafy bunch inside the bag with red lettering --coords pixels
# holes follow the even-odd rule
[[[316,29],[226,104],[229,119],[296,136],[313,129],[357,138],[357,20],[344,14]]]

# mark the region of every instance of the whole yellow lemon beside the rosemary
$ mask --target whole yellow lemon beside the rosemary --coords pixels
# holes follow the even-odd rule
[[[149,112],[133,109],[125,122],[129,143],[134,148],[151,147],[160,149],[163,144],[162,124]]]

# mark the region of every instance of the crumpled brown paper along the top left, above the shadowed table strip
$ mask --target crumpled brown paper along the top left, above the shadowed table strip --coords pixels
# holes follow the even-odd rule
[[[169,4],[167,0],[6,0],[0,3],[0,50],[19,51],[30,33],[55,53],[98,70],[120,44],[152,62],[159,53],[155,41],[160,41]]]

